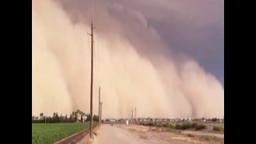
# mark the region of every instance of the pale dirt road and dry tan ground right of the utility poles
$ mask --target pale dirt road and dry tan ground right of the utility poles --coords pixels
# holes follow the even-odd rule
[[[203,139],[195,137],[194,134],[188,136],[183,134],[168,131],[163,132],[155,127],[141,126],[141,125],[124,125],[124,124],[102,124],[99,129],[95,130],[93,139],[85,137],[79,143],[94,143],[94,144],[146,144],[146,143],[161,143],[161,144],[189,144],[189,143],[223,143],[221,138]],[[195,134],[196,135],[196,134]],[[223,139],[223,138],[222,138]]]

